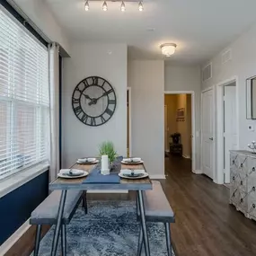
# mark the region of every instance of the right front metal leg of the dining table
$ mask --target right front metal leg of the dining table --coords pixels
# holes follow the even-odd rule
[[[148,236],[146,231],[146,217],[145,217],[145,207],[144,207],[142,190],[137,191],[137,201],[138,201],[138,208],[140,211],[140,221],[141,221],[143,240],[144,240],[144,246],[145,246],[145,254],[146,256],[150,256]]]

